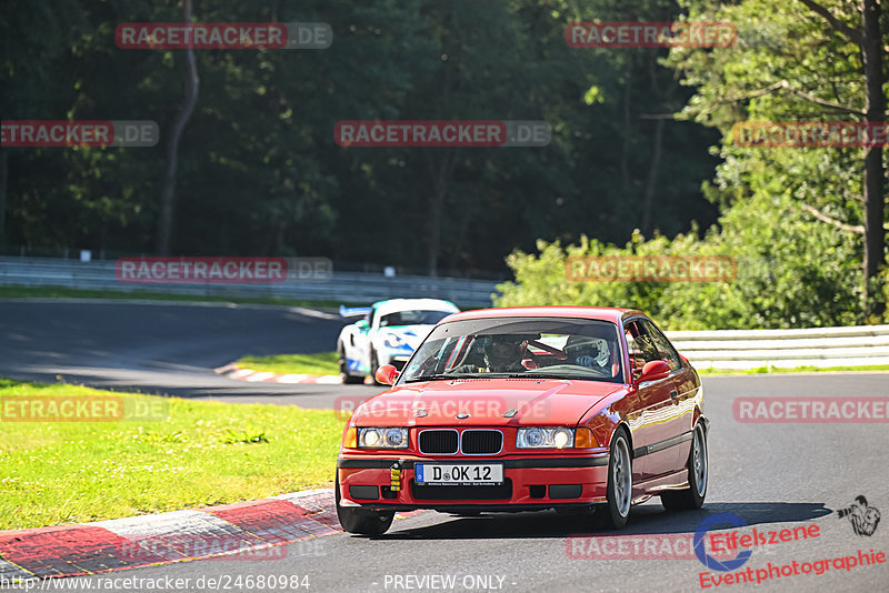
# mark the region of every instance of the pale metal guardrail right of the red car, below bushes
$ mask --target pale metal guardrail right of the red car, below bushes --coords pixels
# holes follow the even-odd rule
[[[889,364],[889,325],[667,332],[697,369]]]

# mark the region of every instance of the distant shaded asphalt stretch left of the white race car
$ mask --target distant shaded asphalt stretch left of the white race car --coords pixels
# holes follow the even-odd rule
[[[226,303],[0,301],[0,376],[182,398],[331,408],[328,385],[248,383],[213,369],[244,354],[330,352],[344,321]],[[350,394],[380,390],[349,385]]]

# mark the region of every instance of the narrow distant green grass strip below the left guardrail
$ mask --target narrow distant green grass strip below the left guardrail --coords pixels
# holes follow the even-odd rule
[[[0,287],[0,299],[124,299],[142,301],[187,301],[187,302],[218,302],[241,304],[277,304],[284,306],[312,306],[321,309],[336,309],[340,304],[346,306],[361,306],[367,303],[340,303],[333,301],[311,301],[300,299],[278,299],[274,296],[230,296],[230,295],[202,295],[202,294],[173,294],[170,292],[154,292],[149,290],[87,290],[69,289],[64,287]]]

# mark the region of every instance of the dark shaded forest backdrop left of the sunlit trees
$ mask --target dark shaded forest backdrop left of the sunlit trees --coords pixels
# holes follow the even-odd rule
[[[712,177],[707,145],[717,135],[665,121],[663,158],[651,167],[658,123],[649,117],[677,111],[691,92],[657,64],[663,51],[572,49],[563,39],[572,20],[678,13],[672,0],[635,4],[196,2],[199,21],[329,22],[333,43],[196,51],[200,92],[180,147],[173,252],[428,270],[437,225],[438,268],[469,273],[506,271],[503,258],[539,237],[625,241],[636,227],[670,235],[692,220],[708,227],[717,208],[700,183]],[[180,19],[178,0],[6,2],[0,115],[156,120],[163,138],[183,100],[184,53],[122,50],[113,31],[120,22]],[[334,123],[354,119],[545,119],[552,142],[336,145]],[[152,252],[163,142],[4,150],[7,249]]]

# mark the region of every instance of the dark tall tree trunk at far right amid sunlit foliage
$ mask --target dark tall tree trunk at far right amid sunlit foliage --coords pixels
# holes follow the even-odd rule
[[[886,96],[882,92],[882,39],[880,34],[879,0],[863,0],[861,24],[863,39],[861,56],[865,62],[867,92],[867,120],[880,122],[886,119]],[[883,165],[882,148],[869,147],[865,153],[865,315],[882,315],[886,303],[876,280],[886,255],[886,231],[883,229]]]

